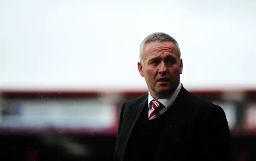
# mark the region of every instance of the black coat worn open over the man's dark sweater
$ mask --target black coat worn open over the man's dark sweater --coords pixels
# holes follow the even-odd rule
[[[123,160],[130,134],[145,106],[148,94],[123,104],[115,161]],[[157,147],[157,161],[231,161],[231,135],[220,106],[188,92],[182,85],[168,110],[171,111]]]

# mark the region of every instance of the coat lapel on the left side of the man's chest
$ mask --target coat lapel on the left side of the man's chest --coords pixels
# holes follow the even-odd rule
[[[131,113],[128,115],[128,118],[125,119],[123,123],[124,130],[122,132],[126,133],[126,138],[124,138],[124,151],[122,155],[122,159],[124,158],[125,152],[126,152],[126,147],[128,145],[128,141],[130,139],[130,135],[132,133],[132,130],[134,129],[134,126],[140,117],[142,110],[144,109],[145,106],[148,106],[148,96],[136,107],[136,104],[133,105],[134,107],[131,108]]]

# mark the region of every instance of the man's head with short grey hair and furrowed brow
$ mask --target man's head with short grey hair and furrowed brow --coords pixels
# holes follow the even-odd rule
[[[166,33],[152,33],[140,44],[138,70],[155,99],[178,87],[183,67],[180,55],[177,41]]]

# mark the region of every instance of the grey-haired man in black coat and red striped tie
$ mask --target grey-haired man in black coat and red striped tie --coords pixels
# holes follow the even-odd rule
[[[138,71],[148,94],[123,104],[115,161],[230,161],[224,111],[180,83],[183,62],[175,39],[152,33],[140,45]]]

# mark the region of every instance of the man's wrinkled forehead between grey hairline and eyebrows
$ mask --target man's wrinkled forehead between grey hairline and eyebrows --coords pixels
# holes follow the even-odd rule
[[[178,56],[178,48],[173,42],[150,42],[145,45],[143,50],[144,58],[156,57],[162,54]]]

